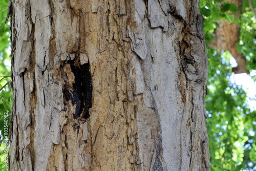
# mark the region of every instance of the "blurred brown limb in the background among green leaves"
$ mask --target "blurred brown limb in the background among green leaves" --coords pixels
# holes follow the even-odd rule
[[[237,4],[238,13],[233,14],[234,18],[240,18],[240,13],[242,10],[241,0],[225,0],[224,2],[230,2]],[[209,44],[210,47],[219,49],[220,51],[229,51],[233,58],[237,61],[238,66],[232,68],[232,72],[235,74],[250,72],[246,69],[246,58],[238,52],[237,44],[239,44],[240,28],[238,23],[228,23],[227,20],[220,20],[220,27],[215,30],[214,40]]]

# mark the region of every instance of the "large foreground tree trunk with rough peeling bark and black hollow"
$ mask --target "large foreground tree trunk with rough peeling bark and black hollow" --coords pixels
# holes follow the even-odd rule
[[[199,1],[11,1],[10,170],[209,170]]]

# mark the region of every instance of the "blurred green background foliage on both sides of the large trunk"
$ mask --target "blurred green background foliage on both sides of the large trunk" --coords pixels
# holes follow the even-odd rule
[[[251,1],[253,9],[256,1]],[[238,12],[235,4],[223,0],[201,0],[200,12],[204,16],[206,45],[212,40],[214,30],[219,27],[217,20],[225,19],[229,23],[239,23],[239,52],[246,56],[247,69],[256,73],[256,16],[249,7],[250,0],[244,0],[240,18],[234,18]],[[8,112],[9,122],[12,104],[10,77],[10,31],[5,24],[8,0],[0,0],[0,131],[4,129],[4,113]],[[256,170],[256,111],[248,105],[247,93],[241,85],[231,80],[233,75],[227,51],[207,47],[209,63],[206,110],[209,135],[211,170]],[[256,74],[251,74],[256,81]],[[256,89],[256,88],[255,88]],[[9,123],[10,124],[10,123]],[[3,131],[2,131],[3,132]],[[0,134],[1,136],[1,134]],[[1,142],[6,139],[1,137]],[[0,170],[4,167],[4,154],[0,145]]]

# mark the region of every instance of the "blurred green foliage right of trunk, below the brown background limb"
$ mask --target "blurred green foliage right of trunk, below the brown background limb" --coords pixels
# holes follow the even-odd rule
[[[211,170],[243,170],[255,166],[254,152],[250,149],[256,144],[250,131],[256,130],[253,122],[256,111],[250,111],[241,86],[229,80],[230,56],[228,52],[218,54],[208,48],[211,65],[206,110]]]

